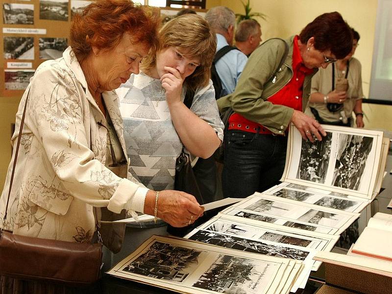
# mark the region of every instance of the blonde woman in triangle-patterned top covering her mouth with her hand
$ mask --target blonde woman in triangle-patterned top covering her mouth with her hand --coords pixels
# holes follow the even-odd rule
[[[192,160],[210,157],[222,142],[224,126],[210,80],[216,39],[208,23],[195,14],[175,17],[161,28],[159,40],[160,48],[143,60],[141,73],[131,74],[116,91],[129,172],[147,188],[171,190],[182,147]],[[191,108],[184,104],[189,89]]]

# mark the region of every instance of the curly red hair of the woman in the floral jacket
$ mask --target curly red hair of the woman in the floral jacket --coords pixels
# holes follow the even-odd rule
[[[130,0],[97,0],[75,14],[71,25],[71,47],[77,59],[82,61],[92,47],[113,49],[125,32],[134,42],[146,43],[152,51],[159,44],[160,25],[157,8],[135,5]]]

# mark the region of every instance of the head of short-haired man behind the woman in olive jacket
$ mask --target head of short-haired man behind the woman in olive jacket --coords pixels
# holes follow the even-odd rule
[[[255,20],[243,20],[237,25],[234,35],[235,45],[247,57],[263,41],[261,39],[261,26]]]

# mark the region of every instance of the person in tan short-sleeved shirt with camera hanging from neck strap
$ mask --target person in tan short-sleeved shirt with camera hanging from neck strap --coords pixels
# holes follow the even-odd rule
[[[364,127],[362,112],[361,63],[353,57],[359,41],[359,33],[352,30],[352,50],[326,69],[321,69],[312,78],[312,90],[305,113],[319,123]],[[347,90],[339,91],[339,83],[344,82]]]

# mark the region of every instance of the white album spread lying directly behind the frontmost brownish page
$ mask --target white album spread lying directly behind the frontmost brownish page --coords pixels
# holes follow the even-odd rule
[[[312,258],[320,250],[330,251],[339,236],[284,229],[280,225],[254,220],[238,220],[236,217],[219,214],[194,229],[184,238],[237,249],[245,252],[290,258],[305,265],[295,280],[291,292],[306,285],[311,270],[318,270],[320,262]]]

